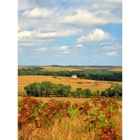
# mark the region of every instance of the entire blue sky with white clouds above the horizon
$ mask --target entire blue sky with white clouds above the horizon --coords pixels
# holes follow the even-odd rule
[[[18,65],[122,66],[122,1],[18,0]]]

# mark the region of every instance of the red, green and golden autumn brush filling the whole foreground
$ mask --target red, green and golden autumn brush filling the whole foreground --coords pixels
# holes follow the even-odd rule
[[[25,97],[18,103],[18,139],[121,140],[121,106],[113,98],[84,103]]]

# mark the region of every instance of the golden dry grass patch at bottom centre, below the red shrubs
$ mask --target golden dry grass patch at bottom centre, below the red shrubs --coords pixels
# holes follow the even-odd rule
[[[63,118],[63,121],[59,122],[55,120],[53,126],[45,129],[36,129],[30,135],[27,133],[24,137],[29,138],[30,140],[95,140],[94,131],[88,132],[85,130],[85,123],[81,118]],[[27,131],[29,126],[26,128]]]

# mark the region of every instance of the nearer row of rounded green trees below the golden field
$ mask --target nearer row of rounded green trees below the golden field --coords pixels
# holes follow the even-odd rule
[[[70,85],[53,84],[48,81],[42,83],[30,83],[24,87],[28,96],[34,97],[96,97],[96,96],[106,96],[106,97],[120,97],[122,96],[122,86],[119,84],[112,84],[110,88],[105,91],[100,92],[99,90],[92,92],[89,88],[82,89],[77,88],[76,91],[71,91]]]

